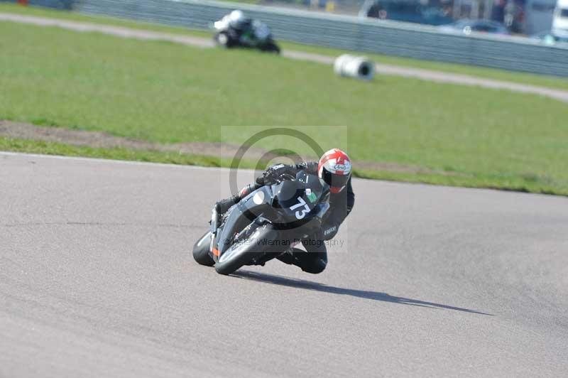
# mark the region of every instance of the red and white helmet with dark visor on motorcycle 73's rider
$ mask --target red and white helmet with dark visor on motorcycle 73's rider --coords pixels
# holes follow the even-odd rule
[[[332,193],[339,193],[351,178],[351,159],[339,148],[332,148],[320,158],[317,175],[329,185]]]

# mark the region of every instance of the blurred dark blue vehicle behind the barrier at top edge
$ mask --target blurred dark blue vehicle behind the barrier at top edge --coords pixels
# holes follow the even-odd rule
[[[366,0],[361,6],[359,16],[428,25],[452,22],[447,10],[423,0]]]

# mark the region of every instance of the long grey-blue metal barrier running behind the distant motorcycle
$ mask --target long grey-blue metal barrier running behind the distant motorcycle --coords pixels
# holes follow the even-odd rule
[[[70,1],[30,0],[53,6]],[[267,6],[197,0],[76,0],[73,8],[189,28],[207,28],[231,9],[239,8],[271,27],[275,38],[315,45],[480,65],[568,77],[568,48],[541,45],[528,38],[465,36],[440,33],[430,26],[355,16],[278,9]]]

